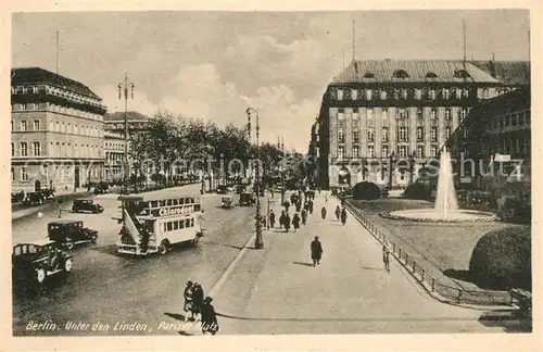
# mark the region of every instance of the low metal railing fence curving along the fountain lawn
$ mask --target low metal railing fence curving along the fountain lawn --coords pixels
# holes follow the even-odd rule
[[[455,302],[468,304],[485,304],[485,305],[510,305],[512,296],[507,291],[491,291],[491,290],[466,290],[462,287],[452,287],[441,282],[438,278],[429,275],[425,263],[417,263],[416,257],[411,255],[400,243],[394,242],[383,228],[371,223],[368,218],[358,213],[358,211],[345,202],[351,214],[381,243],[388,243],[391,254],[432,293]]]

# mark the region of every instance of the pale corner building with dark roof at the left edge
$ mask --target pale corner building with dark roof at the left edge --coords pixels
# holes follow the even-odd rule
[[[13,190],[74,191],[100,178],[102,99],[87,86],[43,68],[11,72]]]

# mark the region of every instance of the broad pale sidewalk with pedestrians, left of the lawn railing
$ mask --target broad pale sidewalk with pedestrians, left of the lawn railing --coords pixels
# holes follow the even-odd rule
[[[384,272],[380,244],[353,217],[337,222],[331,197],[323,221],[324,203],[317,196],[306,226],[266,231],[265,248],[239,261],[214,297],[219,334],[425,332],[442,331],[450,320],[459,322],[455,329],[481,329],[480,312],[437,302],[392,257]],[[314,236],[324,249],[317,267]]]

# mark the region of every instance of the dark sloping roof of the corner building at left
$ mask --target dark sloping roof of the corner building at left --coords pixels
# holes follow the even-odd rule
[[[12,85],[29,85],[29,84],[50,84],[52,86],[62,87],[66,90],[88,96],[102,101],[89,87],[84,84],[52,73],[41,67],[18,67],[11,70]]]

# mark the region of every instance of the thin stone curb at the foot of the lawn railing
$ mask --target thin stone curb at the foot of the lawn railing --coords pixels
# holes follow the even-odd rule
[[[337,197],[336,197],[337,198]],[[338,199],[338,198],[337,198]],[[338,199],[339,200],[339,199]],[[341,201],[341,200],[340,200]],[[351,215],[381,244],[384,244],[383,241],[377,237],[369,228],[366,224],[364,224],[363,221],[361,221],[359,218],[359,215],[356,214],[356,212],[354,212],[352,209],[352,205],[348,204],[346,203],[346,206],[345,209],[349,211],[349,213],[351,213]],[[514,305],[496,305],[496,304],[471,304],[471,303],[462,303],[462,302],[458,302],[458,301],[455,301],[455,300],[452,300],[452,299],[449,299],[449,298],[445,298],[443,296],[441,296],[440,293],[438,293],[437,291],[432,290],[432,287],[425,280],[424,277],[421,277],[418,273],[414,272],[413,269],[411,269],[408,267],[408,264],[407,263],[404,263],[404,261],[402,261],[402,259],[397,255],[397,253],[395,251],[391,251],[391,254],[392,256],[396,260],[396,262],[401,265],[401,267],[407,272],[411,277],[413,277],[415,279],[415,281],[417,281],[417,284],[419,284],[424,290],[430,296],[432,297],[433,299],[435,299],[437,301],[441,302],[441,303],[445,303],[445,304],[450,304],[450,305],[454,305],[454,306],[458,306],[458,307],[464,307],[464,309],[470,309],[470,310],[477,310],[477,311],[489,311],[489,310],[505,310],[505,311],[516,311],[517,309],[514,306]]]

